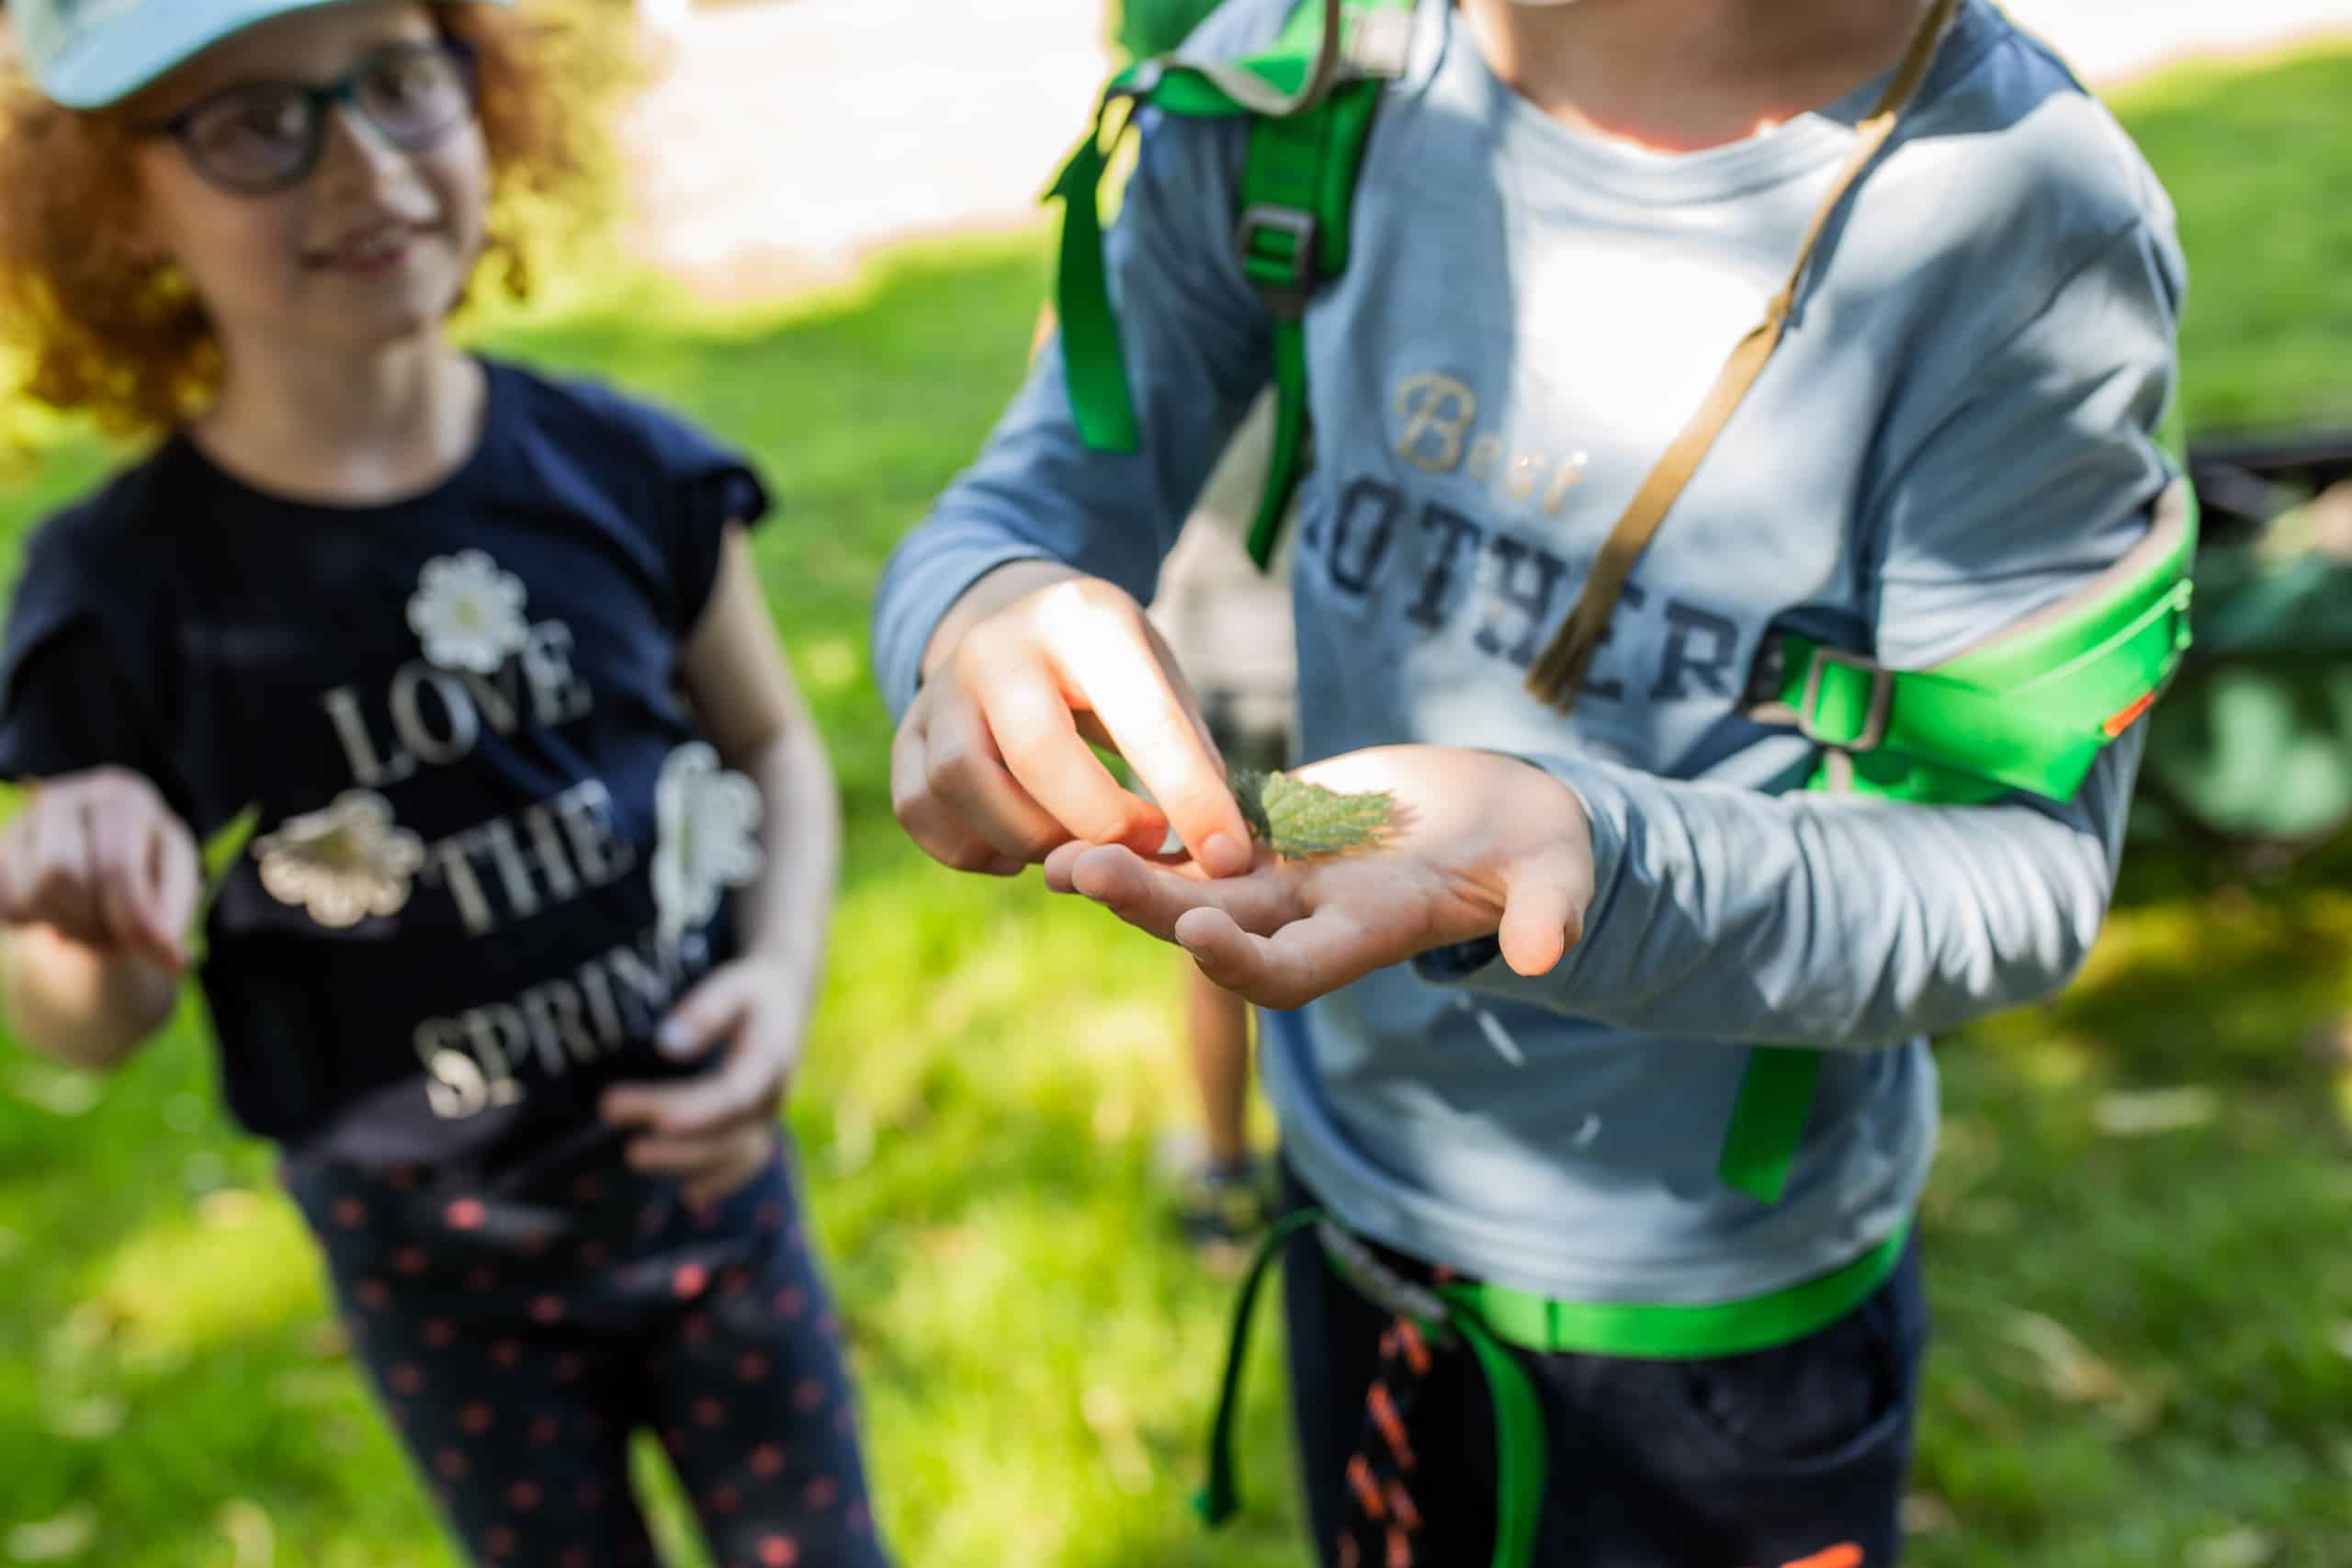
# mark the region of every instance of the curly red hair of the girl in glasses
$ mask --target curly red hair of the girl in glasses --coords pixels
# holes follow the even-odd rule
[[[515,9],[433,0],[473,45],[492,165],[489,244],[473,287],[532,292],[532,259],[604,216],[614,186],[602,108],[628,80],[609,7]],[[569,14],[564,14],[569,12]],[[111,435],[198,414],[221,353],[179,268],[127,242],[139,202],[127,108],[78,113],[9,73],[0,82],[0,362],[35,402]],[[0,393],[5,395],[5,393]]]

